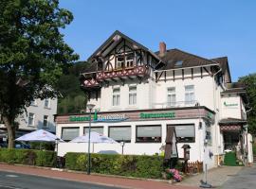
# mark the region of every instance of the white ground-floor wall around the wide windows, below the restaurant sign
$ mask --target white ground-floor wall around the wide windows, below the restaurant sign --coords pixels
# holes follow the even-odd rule
[[[155,153],[160,153],[160,146],[165,145],[165,137],[167,131],[167,125],[175,124],[194,124],[195,128],[195,142],[186,143],[190,145],[191,148],[191,162],[199,161],[202,162],[204,159],[212,167],[214,165],[213,157],[209,158],[209,151],[212,151],[211,145],[204,145],[205,139],[205,125],[203,124],[202,129],[198,128],[199,119],[183,119],[183,120],[157,120],[157,121],[136,121],[136,122],[120,122],[120,123],[92,123],[92,127],[104,127],[104,135],[108,136],[108,126],[131,126],[132,129],[132,138],[131,143],[126,143],[124,146],[124,154],[147,154],[153,155]],[[161,125],[162,129],[162,140],[161,143],[136,143],[136,126],[137,125]],[[58,137],[62,136],[63,128],[80,128],[80,135],[82,135],[83,127],[88,127],[88,124],[74,123],[74,124],[58,124],[56,134]],[[212,128],[212,126],[211,126]],[[185,143],[177,144],[178,156],[183,158],[183,148],[181,148]],[[121,153],[121,146],[119,144],[94,144],[91,146],[91,149],[94,147],[95,153],[101,153],[102,151],[111,150],[114,153]],[[72,144],[72,143],[62,143],[59,145],[59,155],[64,156],[66,152],[85,152],[87,151],[87,144]],[[206,157],[204,155],[204,149],[208,151]]]

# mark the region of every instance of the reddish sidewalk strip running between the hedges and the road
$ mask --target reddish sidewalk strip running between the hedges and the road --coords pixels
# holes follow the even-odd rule
[[[51,179],[60,180],[74,180],[88,183],[96,183],[101,185],[116,186],[120,188],[130,188],[130,189],[195,189],[198,187],[194,186],[181,186],[172,185],[170,183],[165,183],[155,180],[133,180],[133,179],[123,179],[107,176],[98,175],[86,175],[82,173],[73,173],[66,171],[51,170],[46,168],[30,167],[25,165],[11,165],[0,163],[1,171],[9,171],[15,173],[23,173],[27,175],[42,176]]]

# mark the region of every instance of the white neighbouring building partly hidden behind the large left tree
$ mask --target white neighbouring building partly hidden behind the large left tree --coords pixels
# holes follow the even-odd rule
[[[16,131],[16,137],[31,132],[36,129],[46,129],[55,133],[54,114],[57,113],[57,98],[44,100],[35,99],[27,107],[27,112],[21,114],[16,121],[19,123],[19,129]],[[0,143],[3,137],[7,136],[7,130],[4,124],[0,125]]]

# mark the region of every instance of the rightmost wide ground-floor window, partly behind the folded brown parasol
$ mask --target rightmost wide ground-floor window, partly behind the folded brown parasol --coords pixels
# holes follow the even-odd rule
[[[194,138],[194,125],[178,125],[175,127],[177,143],[193,143]]]

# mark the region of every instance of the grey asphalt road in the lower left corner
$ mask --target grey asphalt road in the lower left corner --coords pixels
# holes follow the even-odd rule
[[[118,189],[97,184],[0,171],[0,189]]]

